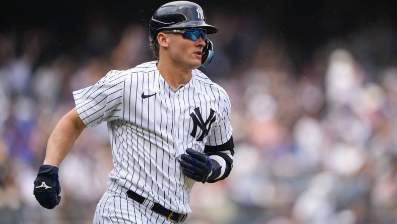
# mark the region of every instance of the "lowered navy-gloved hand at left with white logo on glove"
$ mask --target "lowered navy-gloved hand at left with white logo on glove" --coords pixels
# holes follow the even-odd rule
[[[33,189],[36,200],[41,206],[52,209],[59,204],[59,193],[58,168],[52,165],[40,166]]]

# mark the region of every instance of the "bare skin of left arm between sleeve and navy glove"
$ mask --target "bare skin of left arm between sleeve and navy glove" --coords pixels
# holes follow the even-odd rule
[[[72,109],[63,116],[48,139],[43,164],[59,167],[60,162],[70,152],[84,128],[76,109]]]

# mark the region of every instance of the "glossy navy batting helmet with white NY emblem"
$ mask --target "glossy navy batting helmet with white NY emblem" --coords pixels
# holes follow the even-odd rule
[[[218,32],[215,26],[206,23],[203,9],[188,1],[170,2],[154,12],[149,22],[150,42],[155,41],[157,33],[161,30],[172,28],[202,28],[207,34]]]

